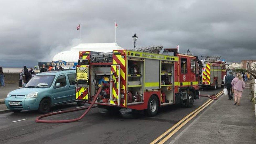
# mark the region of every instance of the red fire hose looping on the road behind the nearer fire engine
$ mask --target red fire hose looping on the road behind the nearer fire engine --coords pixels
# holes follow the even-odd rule
[[[70,109],[70,110],[64,110],[64,111],[58,111],[58,112],[53,112],[53,113],[49,113],[49,114],[40,115],[39,117],[36,118],[36,122],[42,122],[42,123],[66,123],[66,122],[74,122],[74,121],[81,120],[90,111],[91,108],[97,107],[97,106],[93,106],[93,105],[94,105],[95,101],[97,100],[97,97],[99,96],[99,94],[101,92],[101,89],[102,89],[101,87],[98,89],[98,92],[94,96],[94,100],[90,104],[89,107],[79,108],[79,109]],[[63,114],[63,113],[68,113],[68,112],[78,111],[78,110],[83,110],[83,109],[87,109],[87,110],[79,118],[76,118],[76,119],[70,119],[70,120],[40,120],[41,118],[44,118],[44,117],[47,117],[47,116]]]

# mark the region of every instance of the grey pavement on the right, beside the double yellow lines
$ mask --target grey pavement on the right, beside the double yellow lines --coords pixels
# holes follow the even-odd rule
[[[246,87],[249,87],[246,84]],[[223,95],[179,135],[166,143],[256,143],[256,118],[250,102],[250,89],[244,89],[241,105]]]

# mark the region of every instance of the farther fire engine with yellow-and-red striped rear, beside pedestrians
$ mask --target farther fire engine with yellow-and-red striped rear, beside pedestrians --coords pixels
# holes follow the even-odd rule
[[[204,56],[201,60],[203,68],[201,74],[201,86],[217,89],[224,88],[225,76],[227,74],[226,62],[218,56]]]

